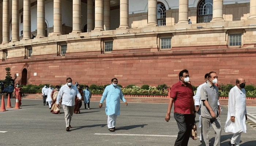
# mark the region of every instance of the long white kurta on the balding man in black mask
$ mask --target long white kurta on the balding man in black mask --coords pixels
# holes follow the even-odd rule
[[[237,86],[233,87],[229,92],[229,110],[227,112],[227,120],[224,127],[225,132],[245,132],[245,89],[239,89]],[[231,122],[230,116],[235,117],[235,122]]]

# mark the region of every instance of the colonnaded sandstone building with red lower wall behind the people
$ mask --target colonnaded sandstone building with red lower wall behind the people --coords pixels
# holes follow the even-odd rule
[[[1,0],[0,43],[24,85],[256,84],[256,0]]]

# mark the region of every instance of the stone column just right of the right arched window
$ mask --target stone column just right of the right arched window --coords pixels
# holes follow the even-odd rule
[[[224,19],[223,19],[223,0],[213,0],[212,20],[211,21],[224,21]]]

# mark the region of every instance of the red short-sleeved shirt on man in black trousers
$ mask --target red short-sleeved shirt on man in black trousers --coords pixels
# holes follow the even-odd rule
[[[193,88],[191,84],[184,86],[181,81],[172,86],[171,98],[174,98],[174,112],[193,114]]]

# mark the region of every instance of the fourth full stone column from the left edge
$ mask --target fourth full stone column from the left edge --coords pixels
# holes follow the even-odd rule
[[[37,0],[37,37],[45,37],[45,1]]]

